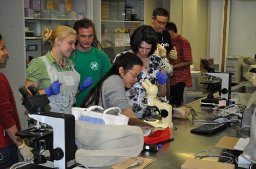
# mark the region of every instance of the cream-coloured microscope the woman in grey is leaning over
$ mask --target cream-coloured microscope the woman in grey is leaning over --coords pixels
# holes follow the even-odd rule
[[[157,99],[157,86],[152,85],[150,80],[147,78],[140,79],[140,85],[146,90],[146,96],[144,97],[143,104],[150,107],[156,106],[160,110],[160,115],[162,117],[162,124],[151,123],[151,125],[160,128],[173,127],[172,106]]]

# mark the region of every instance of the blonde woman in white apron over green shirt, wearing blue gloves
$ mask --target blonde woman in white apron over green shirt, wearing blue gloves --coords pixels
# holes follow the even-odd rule
[[[79,85],[80,74],[69,59],[75,50],[76,31],[69,26],[45,28],[45,41],[50,41],[52,50],[45,56],[33,59],[26,72],[25,87],[34,85],[40,94],[49,98],[49,111],[71,114],[75,96],[92,85],[92,78]]]

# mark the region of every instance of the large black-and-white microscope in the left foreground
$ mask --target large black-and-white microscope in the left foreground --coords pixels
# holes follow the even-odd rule
[[[37,121],[36,126],[15,135],[32,141],[34,160],[17,168],[74,168],[77,150],[74,116],[46,111],[45,106],[50,103],[47,95],[39,94],[33,85],[28,89],[32,96],[24,86],[18,90],[29,117]],[[49,150],[50,157],[40,154],[43,150]]]

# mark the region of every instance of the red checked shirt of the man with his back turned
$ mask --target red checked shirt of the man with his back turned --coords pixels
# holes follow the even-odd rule
[[[177,60],[170,62],[170,64],[176,65],[185,61],[193,61],[188,40],[179,35],[172,39],[172,44],[176,47],[178,58]],[[176,85],[179,82],[184,82],[186,87],[192,87],[190,66],[173,70],[173,76],[170,77],[170,86]]]

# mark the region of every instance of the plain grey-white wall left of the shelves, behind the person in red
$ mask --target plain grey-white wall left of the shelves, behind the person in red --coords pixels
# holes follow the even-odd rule
[[[0,72],[4,72],[9,80],[16,100],[20,124],[22,129],[27,129],[26,109],[22,105],[22,95],[18,91],[20,86],[24,86],[26,79],[23,2],[16,0],[0,1],[0,34],[2,34],[9,51],[7,64],[4,68],[0,68]]]

